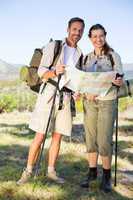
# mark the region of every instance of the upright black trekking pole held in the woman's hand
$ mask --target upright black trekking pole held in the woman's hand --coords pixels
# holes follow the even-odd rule
[[[118,77],[123,77],[123,74],[116,74],[116,78]],[[114,178],[114,186],[116,187],[117,185],[117,154],[118,154],[118,106],[119,106],[119,86],[116,86],[116,128],[115,128],[115,178]]]

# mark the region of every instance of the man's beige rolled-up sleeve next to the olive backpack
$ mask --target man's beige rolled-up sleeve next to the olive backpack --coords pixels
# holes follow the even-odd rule
[[[43,55],[38,68],[38,76],[41,78],[45,72],[49,70],[49,66],[53,62],[55,42],[50,42],[43,49]]]

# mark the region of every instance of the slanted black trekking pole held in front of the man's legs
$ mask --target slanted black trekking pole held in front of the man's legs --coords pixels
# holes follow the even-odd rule
[[[60,79],[61,79],[61,74],[59,74],[59,76],[58,76],[57,86],[56,86],[55,93],[54,93],[54,96],[53,96],[53,102],[52,102],[52,106],[51,106],[50,113],[49,113],[47,127],[46,127],[46,130],[45,130],[45,137],[43,139],[42,147],[41,147],[41,150],[39,152],[38,159],[37,159],[37,162],[36,162],[34,179],[37,179],[37,177],[39,175],[39,168],[40,168],[40,163],[41,163],[41,159],[42,159],[43,149],[44,149],[44,145],[45,145],[45,138],[47,137],[47,133],[48,133],[48,129],[49,129],[51,117],[52,117],[52,114],[53,114],[53,109],[54,109],[54,105],[55,105],[57,91],[58,91],[58,88],[59,88]],[[35,189],[35,185],[36,185],[36,182],[35,182],[35,184],[33,186],[33,190]]]

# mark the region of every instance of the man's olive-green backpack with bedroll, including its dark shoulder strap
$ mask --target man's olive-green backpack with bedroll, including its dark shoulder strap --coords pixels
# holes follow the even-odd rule
[[[50,40],[50,42],[52,42],[52,40]],[[58,60],[58,57],[62,49],[61,43],[62,43],[61,40],[55,40],[54,58],[52,64],[49,66],[49,69],[52,66],[54,66]],[[26,82],[26,84],[30,87],[30,89],[37,93],[39,92],[40,86],[42,84],[42,80],[37,73],[42,55],[43,55],[43,49],[41,48],[35,49],[32,59],[30,61],[30,66],[23,66],[20,69],[20,79]]]

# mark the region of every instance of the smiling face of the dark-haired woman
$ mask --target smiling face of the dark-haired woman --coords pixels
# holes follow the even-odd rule
[[[90,40],[94,48],[102,48],[106,42],[106,36],[102,29],[92,30]]]

